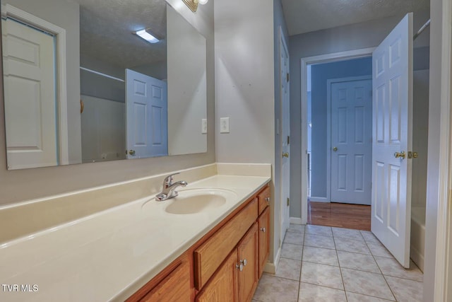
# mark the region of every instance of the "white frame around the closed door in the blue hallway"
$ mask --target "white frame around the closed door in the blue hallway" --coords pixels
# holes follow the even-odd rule
[[[331,85],[333,83],[364,81],[372,80],[372,75],[369,76],[347,76],[345,78],[328,79],[326,80],[326,202],[331,202],[331,117],[332,117],[332,102],[331,102]],[[307,159],[306,159],[307,160]],[[312,169],[312,168],[311,168]],[[372,175],[370,175],[372,176]]]

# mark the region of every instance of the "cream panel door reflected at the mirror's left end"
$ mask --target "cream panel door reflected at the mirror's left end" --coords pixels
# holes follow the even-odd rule
[[[58,164],[54,37],[1,21],[8,169]]]

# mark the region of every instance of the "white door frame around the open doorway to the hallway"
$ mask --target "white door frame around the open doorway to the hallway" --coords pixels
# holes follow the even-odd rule
[[[314,64],[323,64],[323,63],[331,63],[331,62],[339,62],[339,61],[347,61],[350,59],[358,59],[363,57],[371,57],[372,52],[374,52],[376,47],[369,47],[369,48],[363,48],[359,50],[349,50],[346,52],[334,52],[331,54],[321,54],[319,56],[313,56],[313,57],[304,57],[300,60],[301,64],[301,81],[302,81],[302,105],[301,105],[301,113],[300,116],[302,117],[302,149],[300,152],[301,156],[301,163],[302,163],[302,204],[301,204],[301,217],[302,217],[302,224],[307,223],[308,219],[308,175],[307,175],[307,149],[308,149],[308,141],[307,141],[307,133],[308,133],[308,80],[307,80],[307,74],[308,74],[308,65],[314,65]],[[327,126],[328,127],[328,126]],[[328,131],[328,130],[327,130]],[[330,141],[331,144],[331,141]],[[328,145],[327,145],[328,146]],[[331,164],[329,161],[327,162],[327,165]],[[331,179],[328,179],[327,176],[327,182],[330,182]],[[330,194],[330,191],[327,190],[327,194]]]

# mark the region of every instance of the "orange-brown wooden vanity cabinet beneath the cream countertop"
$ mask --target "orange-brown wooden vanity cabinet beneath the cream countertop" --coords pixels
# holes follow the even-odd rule
[[[251,301],[270,248],[269,205],[267,185],[127,301]]]

